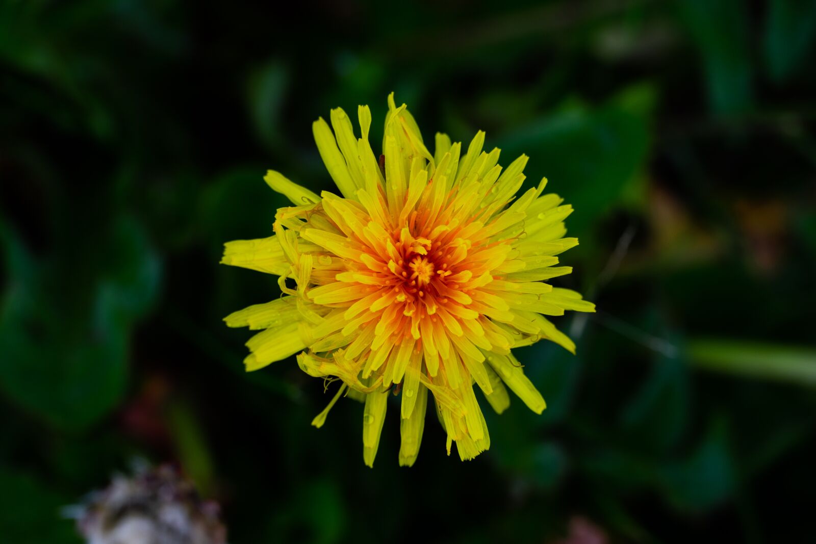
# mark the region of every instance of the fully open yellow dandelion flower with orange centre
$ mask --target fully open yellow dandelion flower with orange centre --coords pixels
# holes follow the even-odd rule
[[[224,321],[263,329],[246,343],[247,370],[299,353],[307,374],[342,381],[316,427],[344,392],[365,400],[367,465],[389,391],[401,391],[401,465],[419,453],[429,397],[448,453],[455,442],[460,458],[475,458],[490,436],[473,384],[498,413],[510,403],[506,386],[540,414],[544,400],[511,348],[546,338],[574,352],[545,316],[594,312],[579,293],[545,283],[572,271],[555,266],[578,244],[565,237],[572,206],[542,194],[547,179],[516,198],[527,157],[502,170],[498,148],[482,151],[482,131],[465,153],[437,134],[431,154],[393,94],[378,161],[368,106],[357,115],[359,139],[340,108],[331,127],[313,124],[339,195],[318,196],[269,170],[267,184],[295,206],[277,210],[273,236],[228,242],[221,262],[280,276],[284,296]]]

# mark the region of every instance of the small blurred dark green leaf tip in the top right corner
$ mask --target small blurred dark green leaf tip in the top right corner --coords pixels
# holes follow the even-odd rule
[[[816,2],[771,0],[763,53],[774,82],[784,82],[808,58],[816,38]]]

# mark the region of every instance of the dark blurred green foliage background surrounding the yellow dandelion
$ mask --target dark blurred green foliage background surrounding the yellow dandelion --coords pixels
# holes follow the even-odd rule
[[[78,542],[60,506],[134,458],[234,544],[814,534],[816,2],[0,5],[0,541]],[[472,462],[430,418],[397,467],[389,410],[366,468],[361,405],[310,427],[322,382],[220,321],[277,294],[218,264],[271,234],[265,170],[329,188],[311,122],[370,104],[379,151],[390,91],[530,155],[599,308],[517,350],[548,409],[483,403]]]

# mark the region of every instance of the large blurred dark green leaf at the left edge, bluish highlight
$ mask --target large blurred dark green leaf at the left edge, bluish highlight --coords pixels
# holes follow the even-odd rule
[[[0,223],[9,283],[0,302],[0,390],[63,429],[118,405],[131,327],[155,298],[159,267],[138,223],[121,218],[69,263],[34,260]],[[70,273],[69,273],[70,271]]]

